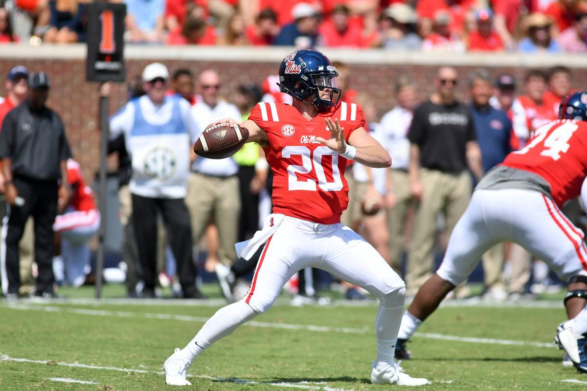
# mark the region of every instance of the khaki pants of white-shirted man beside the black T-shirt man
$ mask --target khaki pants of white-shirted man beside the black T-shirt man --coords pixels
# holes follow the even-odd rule
[[[407,210],[410,205],[410,180],[407,172],[392,169],[392,188],[396,205],[387,209],[387,229],[389,230],[389,265],[397,273],[402,270],[404,250],[403,236],[406,227]]]

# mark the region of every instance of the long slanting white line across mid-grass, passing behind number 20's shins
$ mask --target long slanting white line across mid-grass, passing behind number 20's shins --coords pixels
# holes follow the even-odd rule
[[[113,316],[120,318],[149,318],[149,319],[173,319],[178,321],[186,322],[207,322],[209,318],[204,317],[190,317],[187,315],[173,315],[173,314],[152,314],[152,313],[141,313],[141,312],[124,312],[124,311],[104,311],[104,310],[88,310],[86,308],[63,308],[63,307],[51,307],[49,305],[40,307],[38,305],[23,305],[10,303],[3,306],[4,308],[10,308],[12,310],[36,310],[45,312],[69,312],[72,314],[82,315],[97,315],[97,316]],[[251,321],[244,324],[249,327],[263,327],[263,328],[278,328],[288,330],[306,330],[306,331],[318,331],[318,332],[342,332],[346,334],[367,334],[371,332],[369,327],[364,328],[346,328],[346,327],[328,327],[328,326],[316,326],[316,325],[300,325],[300,324],[288,324],[288,323],[273,323],[273,322],[257,322]],[[473,344],[491,344],[491,345],[518,345],[518,346],[537,346],[538,348],[555,348],[555,344],[546,342],[534,342],[534,341],[512,341],[511,339],[493,339],[493,338],[474,338],[467,336],[457,335],[444,335],[436,333],[423,333],[416,332],[414,336],[429,339],[441,339],[444,341],[456,341],[456,342],[471,342]]]

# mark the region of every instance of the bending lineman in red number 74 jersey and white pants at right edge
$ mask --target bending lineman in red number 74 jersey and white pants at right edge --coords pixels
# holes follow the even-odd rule
[[[443,263],[404,314],[398,345],[467,279],[481,255],[500,242],[518,243],[568,281],[569,318],[585,307],[587,247],[581,230],[559,207],[581,193],[587,175],[586,103],[585,91],[566,96],[559,118],[573,119],[538,128],[526,147],[512,152],[481,179],[454,227]]]

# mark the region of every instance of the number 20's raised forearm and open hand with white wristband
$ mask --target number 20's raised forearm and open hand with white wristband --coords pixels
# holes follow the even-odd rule
[[[326,118],[326,126],[330,131],[330,139],[316,137],[326,147],[338,152],[342,157],[352,159],[362,165],[373,168],[389,167],[392,158],[385,148],[375,140],[365,128],[359,127],[349,136],[347,144],[345,140],[345,128],[340,126],[338,119],[334,121]]]

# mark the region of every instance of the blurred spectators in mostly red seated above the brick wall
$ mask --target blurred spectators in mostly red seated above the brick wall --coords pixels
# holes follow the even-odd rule
[[[112,0],[119,1],[119,0]],[[585,0],[126,0],[141,45],[587,51]],[[0,43],[85,42],[86,0],[0,1]]]

